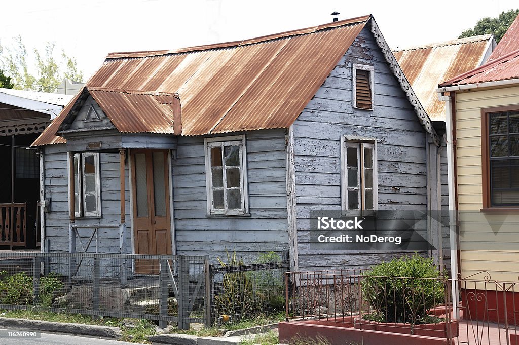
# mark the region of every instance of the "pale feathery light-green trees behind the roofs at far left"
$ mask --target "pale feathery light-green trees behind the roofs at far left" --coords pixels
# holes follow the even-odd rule
[[[78,69],[76,60],[64,51],[57,60],[55,47],[56,43],[47,42],[43,53],[34,49],[34,67],[30,68],[32,60],[22,37],[18,36],[12,47],[0,47],[0,68],[10,78],[13,88],[20,90],[54,92],[63,78],[83,81],[83,72]]]

